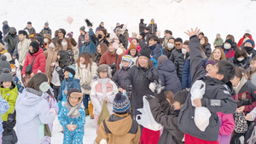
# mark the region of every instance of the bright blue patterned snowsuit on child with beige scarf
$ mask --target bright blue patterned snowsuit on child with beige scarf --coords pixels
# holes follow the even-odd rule
[[[63,144],[81,144],[83,143],[84,136],[84,124],[85,124],[85,112],[83,108],[79,108],[80,116],[78,118],[70,118],[67,117],[67,113],[69,111],[66,107],[61,108],[61,112],[59,113],[59,121],[61,125],[64,127],[64,138]],[[73,131],[69,131],[67,129],[67,124],[76,124],[77,128]]]

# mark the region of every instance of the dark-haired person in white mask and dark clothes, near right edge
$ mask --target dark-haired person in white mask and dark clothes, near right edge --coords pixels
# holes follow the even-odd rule
[[[247,55],[247,51],[243,48],[235,50],[235,55],[230,59],[230,62],[234,63],[235,66],[247,69],[250,66],[251,57]]]

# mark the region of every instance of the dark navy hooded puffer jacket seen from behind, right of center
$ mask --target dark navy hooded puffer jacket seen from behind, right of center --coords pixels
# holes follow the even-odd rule
[[[166,87],[166,91],[172,91],[173,94],[176,94],[177,91],[181,90],[181,83],[171,60],[164,60],[160,66],[158,66],[158,72],[162,86]]]

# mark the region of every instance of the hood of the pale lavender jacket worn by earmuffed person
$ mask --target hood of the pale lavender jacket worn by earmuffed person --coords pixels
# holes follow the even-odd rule
[[[21,102],[26,106],[34,106],[47,96],[42,91],[31,88],[24,89],[22,95],[24,95],[24,97]]]

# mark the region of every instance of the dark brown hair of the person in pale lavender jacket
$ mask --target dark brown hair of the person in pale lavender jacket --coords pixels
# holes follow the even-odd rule
[[[39,89],[39,87],[40,87],[40,84],[42,84],[42,83],[44,83],[44,82],[48,83],[48,78],[47,78],[47,76],[46,76],[44,73],[42,73],[42,72],[38,72],[37,74],[34,75],[34,77],[32,77],[32,78],[28,81],[26,87],[27,87],[27,88],[35,89],[35,90],[37,90],[37,91],[41,91],[41,90]],[[53,95],[52,95],[52,93],[49,91],[49,89],[48,89],[48,91],[47,91],[47,94],[49,94],[51,97],[53,97]]]

